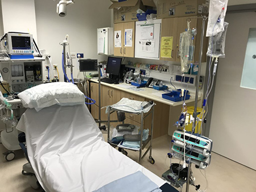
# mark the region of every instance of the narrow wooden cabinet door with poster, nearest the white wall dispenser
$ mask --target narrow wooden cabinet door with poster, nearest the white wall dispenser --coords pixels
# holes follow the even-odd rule
[[[123,23],[114,24],[114,56],[123,56]],[[121,41],[121,44],[119,44]]]

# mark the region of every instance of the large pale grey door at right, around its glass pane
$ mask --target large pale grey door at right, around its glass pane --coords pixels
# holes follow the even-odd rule
[[[255,12],[226,15],[226,58],[218,64],[210,124],[213,151],[253,169],[256,90],[241,88],[240,83],[249,28],[256,27],[255,19]]]

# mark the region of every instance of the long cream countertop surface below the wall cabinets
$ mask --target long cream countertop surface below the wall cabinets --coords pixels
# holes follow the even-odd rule
[[[91,82],[95,82],[98,83],[98,78],[97,79],[90,79],[89,81]],[[170,105],[170,106],[179,106],[182,105],[183,102],[173,102],[170,101],[168,99],[164,99],[162,98],[162,94],[166,93],[164,91],[158,91],[149,87],[143,87],[143,88],[139,88],[137,89],[136,86],[130,85],[130,84],[126,84],[126,83],[122,83],[122,84],[108,84],[105,82],[101,82],[101,85],[105,85],[105,86],[109,86],[112,87],[114,89],[118,89],[121,91],[126,91],[128,93],[131,94],[135,94],[135,95],[139,95],[141,97],[147,98],[147,99],[152,99],[154,101],[158,101],[161,103],[164,103],[166,105]],[[199,101],[201,99],[201,94],[199,94]],[[191,97],[190,99],[186,100],[186,103],[191,103],[195,101],[195,93],[191,93]]]

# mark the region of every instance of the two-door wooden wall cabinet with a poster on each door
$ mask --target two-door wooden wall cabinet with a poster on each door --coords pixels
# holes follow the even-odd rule
[[[114,24],[114,56],[134,57],[135,22]]]

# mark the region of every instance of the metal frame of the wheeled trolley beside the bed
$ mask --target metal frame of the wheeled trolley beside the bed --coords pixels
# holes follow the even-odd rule
[[[152,140],[153,140],[153,124],[154,124],[154,105],[151,106],[151,110],[147,112],[147,115],[144,116],[144,112],[143,111],[139,111],[139,112],[130,112],[130,111],[123,111],[123,110],[117,110],[115,108],[113,108],[112,106],[108,106],[108,143],[110,145],[112,145],[113,147],[119,147],[117,144],[114,144],[111,142],[111,140],[109,139],[109,133],[110,133],[110,114],[112,114],[113,112],[117,112],[117,111],[121,111],[121,112],[125,112],[125,113],[129,113],[129,114],[136,114],[139,115],[141,114],[141,133],[140,133],[140,147],[139,150],[135,150],[135,149],[130,149],[132,151],[139,151],[139,164],[141,164],[141,160],[147,155],[148,151],[150,151],[150,156],[148,157],[150,160],[151,164],[155,163],[154,158],[152,157]],[[143,136],[143,121],[144,119],[147,118],[148,115],[152,114],[152,122],[151,122],[151,133],[150,135],[148,135],[148,139],[145,141],[142,141],[142,136]],[[124,123],[124,122],[123,122]],[[146,152],[144,152],[144,154],[142,155],[142,151],[143,149],[147,146],[147,144],[150,143],[148,149]],[[120,150],[121,149],[121,150]],[[118,151],[122,151],[124,152],[124,149],[128,149],[126,147],[119,147]],[[125,155],[127,155],[127,152],[124,153]]]

